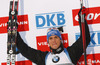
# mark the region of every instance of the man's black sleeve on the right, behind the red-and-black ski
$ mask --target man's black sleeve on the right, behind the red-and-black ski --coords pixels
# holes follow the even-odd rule
[[[74,64],[77,63],[77,61],[83,54],[83,41],[82,41],[81,17],[80,16],[79,16],[79,24],[80,24],[80,32],[81,32],[80,37],[75,43],[73,43],[72,46],[67,48],[70,58]],[[86,37],[86,47],[87,47],[90,42],[90,33],[89,33],[89,28],[88,28],[86,20],[85,20],[85,37]]]

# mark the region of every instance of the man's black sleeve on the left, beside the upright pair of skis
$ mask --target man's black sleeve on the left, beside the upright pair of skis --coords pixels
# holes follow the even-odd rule
[[[32,62],[38,64],[45,62],[45,56],[48,52],[42,52],[36,49],[29,47],[20,37],[20,34],[17,32],[17,40],[16,45],[19,52],[26,57],[27,59],[31,60]]]

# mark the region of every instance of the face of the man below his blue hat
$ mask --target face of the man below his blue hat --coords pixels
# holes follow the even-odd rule
[[[49,45],[52,49],[57,49],[61,44],[61,39],[57,36],[50,36],[49,37]]]

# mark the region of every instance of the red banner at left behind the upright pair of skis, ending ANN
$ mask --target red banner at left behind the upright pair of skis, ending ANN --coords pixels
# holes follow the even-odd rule
[[[0,18],[0,34],[7,33],[8,20],[9,20],[9,17]],[[17,23],[18,23],[18,31],[29,31],[28,15],[19,15]]]

